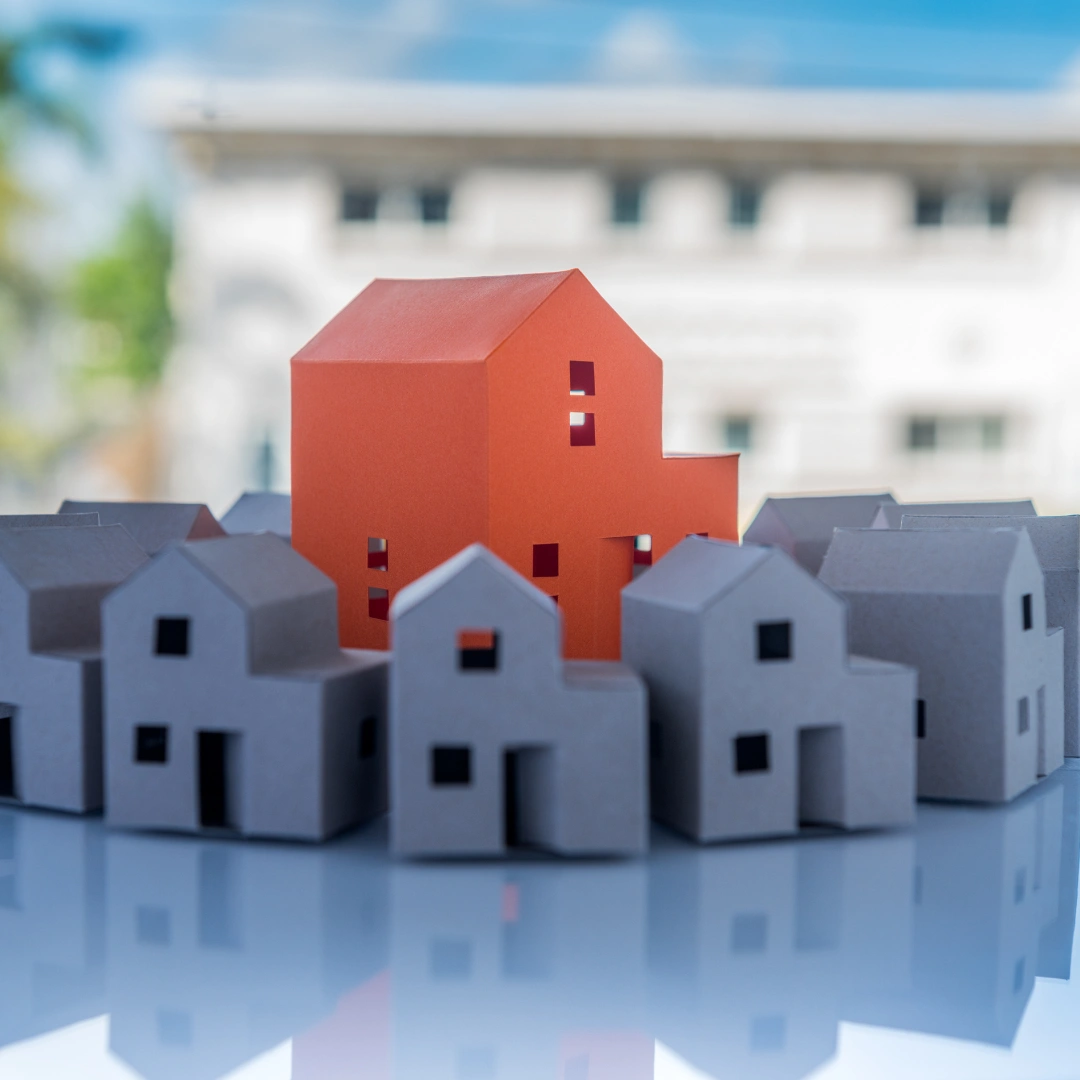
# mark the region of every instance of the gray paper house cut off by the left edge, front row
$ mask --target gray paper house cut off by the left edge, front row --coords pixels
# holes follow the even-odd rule
[[[145,562],[118,526],[0,529],[0,798],[100,807],[100,605]]]

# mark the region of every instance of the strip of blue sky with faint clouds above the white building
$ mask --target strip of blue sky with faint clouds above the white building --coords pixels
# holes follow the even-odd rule
[[[131,62],[217,75],[1034,90],[1069,79],[1080,54],[1080,0],[5,0],[4,9],[9,22],[130,25]]]

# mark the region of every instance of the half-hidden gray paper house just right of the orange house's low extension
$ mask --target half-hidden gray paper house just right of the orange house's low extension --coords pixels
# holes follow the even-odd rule
[[[889,491],[769,498],[743,534],[743,543],[782,548],[804,570],[816,575],[834,529],[865,528],[882,503],[895,501]]]

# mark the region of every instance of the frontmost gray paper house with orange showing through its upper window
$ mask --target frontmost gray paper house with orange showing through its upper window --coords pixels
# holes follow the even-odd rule
[[[564,661],[562,618],[481,544],[394,597],[393,849],[633,854],[647,842],[646,699],[610,661]]]

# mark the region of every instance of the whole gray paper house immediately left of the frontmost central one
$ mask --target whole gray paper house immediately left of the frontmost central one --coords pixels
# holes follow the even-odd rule
[[[105,605],[110,824],[320,840],[386,809],[384,652],[278,537],[166,548]]]

